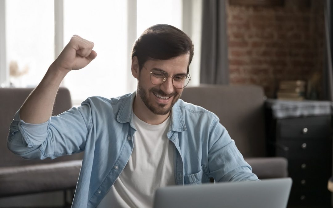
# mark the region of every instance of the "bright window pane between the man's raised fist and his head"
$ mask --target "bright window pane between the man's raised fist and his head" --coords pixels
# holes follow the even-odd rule
[[[72,71],[64,79],[74,104],[90,96],[111,98],[127,90],[126,1],[65,0],[64,43],[77,34],[94,42],[97,57],[87,67]]]

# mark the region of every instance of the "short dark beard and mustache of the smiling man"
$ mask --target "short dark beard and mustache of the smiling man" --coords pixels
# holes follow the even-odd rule
[[[150,101],[147,97],[147,93],[146,93],[145,89],[141,87],[141,84],[140,84],[139,80],[138,80],[138,92],[139,92],[139,96],[140,96],[141,100],[148,107],[148,109],[150,111],[152,111],[154,114],[157,114],[157,115],[166,115],[167,113],[169,113],[171,111],[173,105],[179,100],[179,98],[181,96],[181,94],[178,95],[177,92],[166,95],[162,90],[152,88],[152,89],[149,90],[149,92],[152,92],[153,94],[154,93],[159,94],[163,97],[171,97],[171,96],[176,97],[178,95],[178,97],[176,99],[172,100],[170,107],[166,108],[167,104],[158,104],[158,106],[155,107],[155,106],[153,106],[153,104],[150,103]]]

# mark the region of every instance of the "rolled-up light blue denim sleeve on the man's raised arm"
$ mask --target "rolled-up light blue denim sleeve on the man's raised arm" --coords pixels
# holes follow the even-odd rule
[[[18,110],[9,128],[7,147],[25,159],[53,159],[78,153],[84,150],[91,125],[88,102],[51,116],[41,124],[24,122]]]

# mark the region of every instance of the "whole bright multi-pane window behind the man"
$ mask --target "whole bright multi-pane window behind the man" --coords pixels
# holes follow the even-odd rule
[[[133,92],[136,79],[131,75],[130,56],[135,38],[154,24],[183,29],[184,9],[191,9],[183,8],[185,1],[200,5],[201,0],[0,0],[0,7],[5,5],[0,9],[0,16],[5,17],[0,18],[0,46],[6,45],[5,53],[0,54],[0,61],[6,63],[0,65],[1,87],[4,83],[8,87],[9,81],[12,87],[36,87],[58,54],[55,51],[77,34],[95,43],[98,56],[84,69],[65,77],[62,86],[69,88],[73,104],[79,105],[90,96],[111,98]],[[55,27],[59,16],[63,27]],[[198,49],[198,43],[193,42]],[[192,63],[200,58],[197,51],[195,55]],[[192,78],[193,74],[191,71]],[[192,80],[190,85],[195,82]]]

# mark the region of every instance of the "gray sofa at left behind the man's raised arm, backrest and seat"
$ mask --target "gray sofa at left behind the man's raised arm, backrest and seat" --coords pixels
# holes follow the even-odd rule
[[[7,135],[15,112],[31,93],[32,88],[0,88],[0,197],[71,190],[76,187],[82,154],[54,160],[25,160],[7,149]],[[60,88],[53,114],[72,107],[66,88]],[[66,200],[66,199],[65,199]]]

